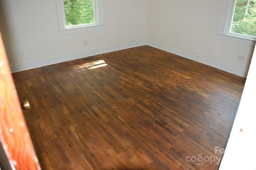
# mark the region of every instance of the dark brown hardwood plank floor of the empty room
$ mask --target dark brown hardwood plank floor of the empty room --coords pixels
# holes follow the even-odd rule
[[[244,78],[149,46],[96,57],[13,73],[43,170],[218,169]]]

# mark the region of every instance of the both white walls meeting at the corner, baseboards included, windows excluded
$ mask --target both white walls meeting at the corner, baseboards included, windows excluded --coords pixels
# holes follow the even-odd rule
[[[103,30],[60,36],[54,0],[0,0],[0,29],[12,72],[150,45],[246,77],[253,47],[218,39],[223,4],[102,0]]]

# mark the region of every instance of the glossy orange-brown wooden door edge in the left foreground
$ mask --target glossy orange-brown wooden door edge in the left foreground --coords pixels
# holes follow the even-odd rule
[[[1,34],[0,142],[1,169],[40,169],[12,79]]]

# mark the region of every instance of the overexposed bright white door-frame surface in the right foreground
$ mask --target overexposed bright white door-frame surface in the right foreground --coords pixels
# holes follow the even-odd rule
[[[256,169],[255,75],[256,50],[254,50],[240,105],[220,164],[220,170]]]

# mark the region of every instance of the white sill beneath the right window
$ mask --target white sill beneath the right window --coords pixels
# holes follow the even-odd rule
[[[222,34],[218,33],[218,39],[228,41],[228,42],[234,42],[234,43],[239,43],[243,45],[248,45],[248,46],[255,46],[256,40],[249,39],[249,38],[243,38],[243,37],[238,37],[238,36],[232,36],[229,34]]]

